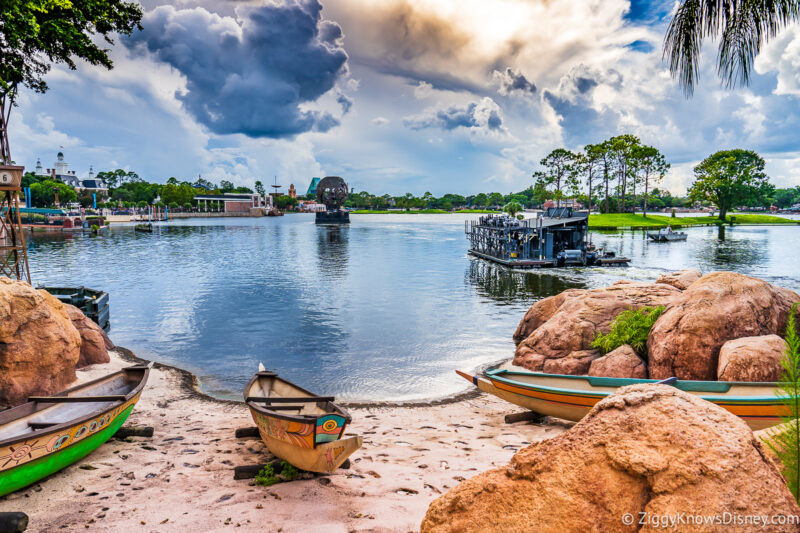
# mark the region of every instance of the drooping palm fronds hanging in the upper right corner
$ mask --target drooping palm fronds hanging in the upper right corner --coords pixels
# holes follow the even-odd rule
[[[664,38],[664,57],[686,96],[700,75],[700,48],[719,38],[717,74],[726,88],[747,85],[761,47],[800,19],[800,0],[683,0]]]

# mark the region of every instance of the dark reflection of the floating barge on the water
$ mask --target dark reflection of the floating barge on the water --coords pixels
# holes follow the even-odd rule
[[[478,294],[499,303],[538,300],[567,289],[584,289],[586,283],[560,274],[560,270],[512,271],[481,259],[470,258],[466,280]]]

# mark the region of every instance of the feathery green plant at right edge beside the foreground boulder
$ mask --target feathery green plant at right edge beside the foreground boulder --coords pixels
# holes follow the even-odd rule
[[[786,324],[788,345],[781,366],[783,373],[776,391],[783,403],[783,424],[769,431],[767,445],[783,463],[783,477],[800,502],[800,335],[797,334],[797,305],[792,306]]]

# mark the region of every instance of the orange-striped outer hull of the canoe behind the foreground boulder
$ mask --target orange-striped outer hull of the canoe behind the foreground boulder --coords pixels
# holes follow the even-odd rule
[[[486,378],[472,376],[458,372],[460,376],[472,382],[480,390],[493,394],[520,407],[530,409],[545,416],[553,416],[565,420],[579,421],[591,411],[592,407],[603,398],[613,393],[613,390],[592,391],[564,389],[548,386],[536,386],[529,383],[516,382],[511,379],[498,379],[490,372]],[[520,373],[516,373],[520,374]],[[535,376],[535,373],[530,373]],[[564,376],[541,376],[542,381],[550,377],[553,380]],[[574,378],[573,376],[567,376]],[[625,381],[625,380],[618,380]],[[653,383],[655,380],[629,380],[632,383]],[[737,384],[731,384],[736,387]],[[622,385],[620,385],[622,386]],[[726,397],[725,395],[709,395],[698,391],[687,391],[700,398],[718,405],[726,411],[744,420],[750,429],[758,431],[780,424],[783,420],[783,404],[777,397],[754,397],[748,399],[742,396]]]

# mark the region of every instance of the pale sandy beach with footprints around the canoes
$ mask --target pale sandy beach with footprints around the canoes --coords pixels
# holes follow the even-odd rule
[[[131,364],[78,371],[80,381]],[[565,430],[557,423],[504,423],[519,409],[486,395],[439,405],[349,407],[348,434],[364,437],[349,469],[272,487],[234,480],[235,466],[272,456],[241,402],[196,390],[192,376],[157,366],[126,426],[152,438],[111,439],[82,461],[0,499],[24,511],[29,531],[350,532],[417,531],[430,502],[460,480],[507,463],[520,448]]]

